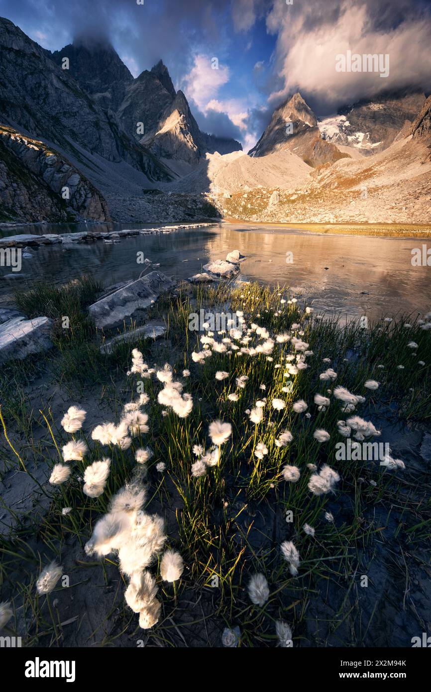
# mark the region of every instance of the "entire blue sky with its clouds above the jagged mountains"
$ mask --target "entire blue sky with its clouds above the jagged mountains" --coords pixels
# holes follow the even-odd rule
[[[246,150],[297,90],[321,116],[381,89],[429,93],[430,10],[427,0],[0,0],[0,15],[51,51],[104,37],[135,76],[162,58],[202,129]],[[389,77],[337,73],[348,49],[388,53]]]

